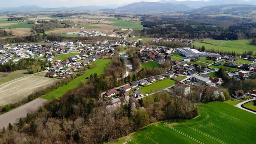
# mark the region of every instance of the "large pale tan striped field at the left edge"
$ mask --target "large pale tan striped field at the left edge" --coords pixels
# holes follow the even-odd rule
[[[0,105],[15,103],[22,100],[35,90],[53,83],[56,79],[30,75],[0,85]]]

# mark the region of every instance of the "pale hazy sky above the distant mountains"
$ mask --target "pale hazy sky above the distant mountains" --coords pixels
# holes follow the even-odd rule
[[[77,7],[90,5],[109,6],[111,4],[122,5],[140,1],[157,2],[159,0],[0,0],[0,7],[20,7],[24,5],[37,5],[39,7]]]

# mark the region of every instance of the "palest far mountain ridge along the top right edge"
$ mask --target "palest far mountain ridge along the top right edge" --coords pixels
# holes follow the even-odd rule
[[[209,0],[209,1],[177,1],[177,0],[160,0],[160,3],[174,3],[174,4],[184,4],[187,7],[192,8],[200,8],[207,6],[215,6],[215,5],[226,5],[226,4],[249,4],[256,5],[256,0]]]

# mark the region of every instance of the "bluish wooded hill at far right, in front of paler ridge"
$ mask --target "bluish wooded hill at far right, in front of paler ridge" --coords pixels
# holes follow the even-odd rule
[[[188,14],[233,14],[233,15],[242,15],[250,14],[256,10],[255,5],[217,5],[217,6],[208,6],[200,7],[196,10],[187,11]]]

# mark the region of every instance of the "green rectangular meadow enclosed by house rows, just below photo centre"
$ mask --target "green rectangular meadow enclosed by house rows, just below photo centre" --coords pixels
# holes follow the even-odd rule
[[[153,83],[151,85],[143,87],[140,90],[142,91],[143,95],[151,94],[151,93],[157,92],[157,91],[159,91],[161,89],[168,88],[168,87],[174,85],[174,83],[175,83],[175,81],[173,81],[171,79],[164,79],[162,81],[155,82],[155,83]]]

